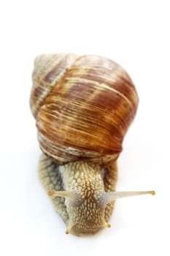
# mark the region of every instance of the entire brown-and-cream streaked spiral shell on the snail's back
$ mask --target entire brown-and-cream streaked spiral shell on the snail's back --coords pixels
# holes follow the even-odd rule
[[[31,110],[42,151],[64,164],[117,159],[139,98],[123,67],[101,56],[39,56]]]

